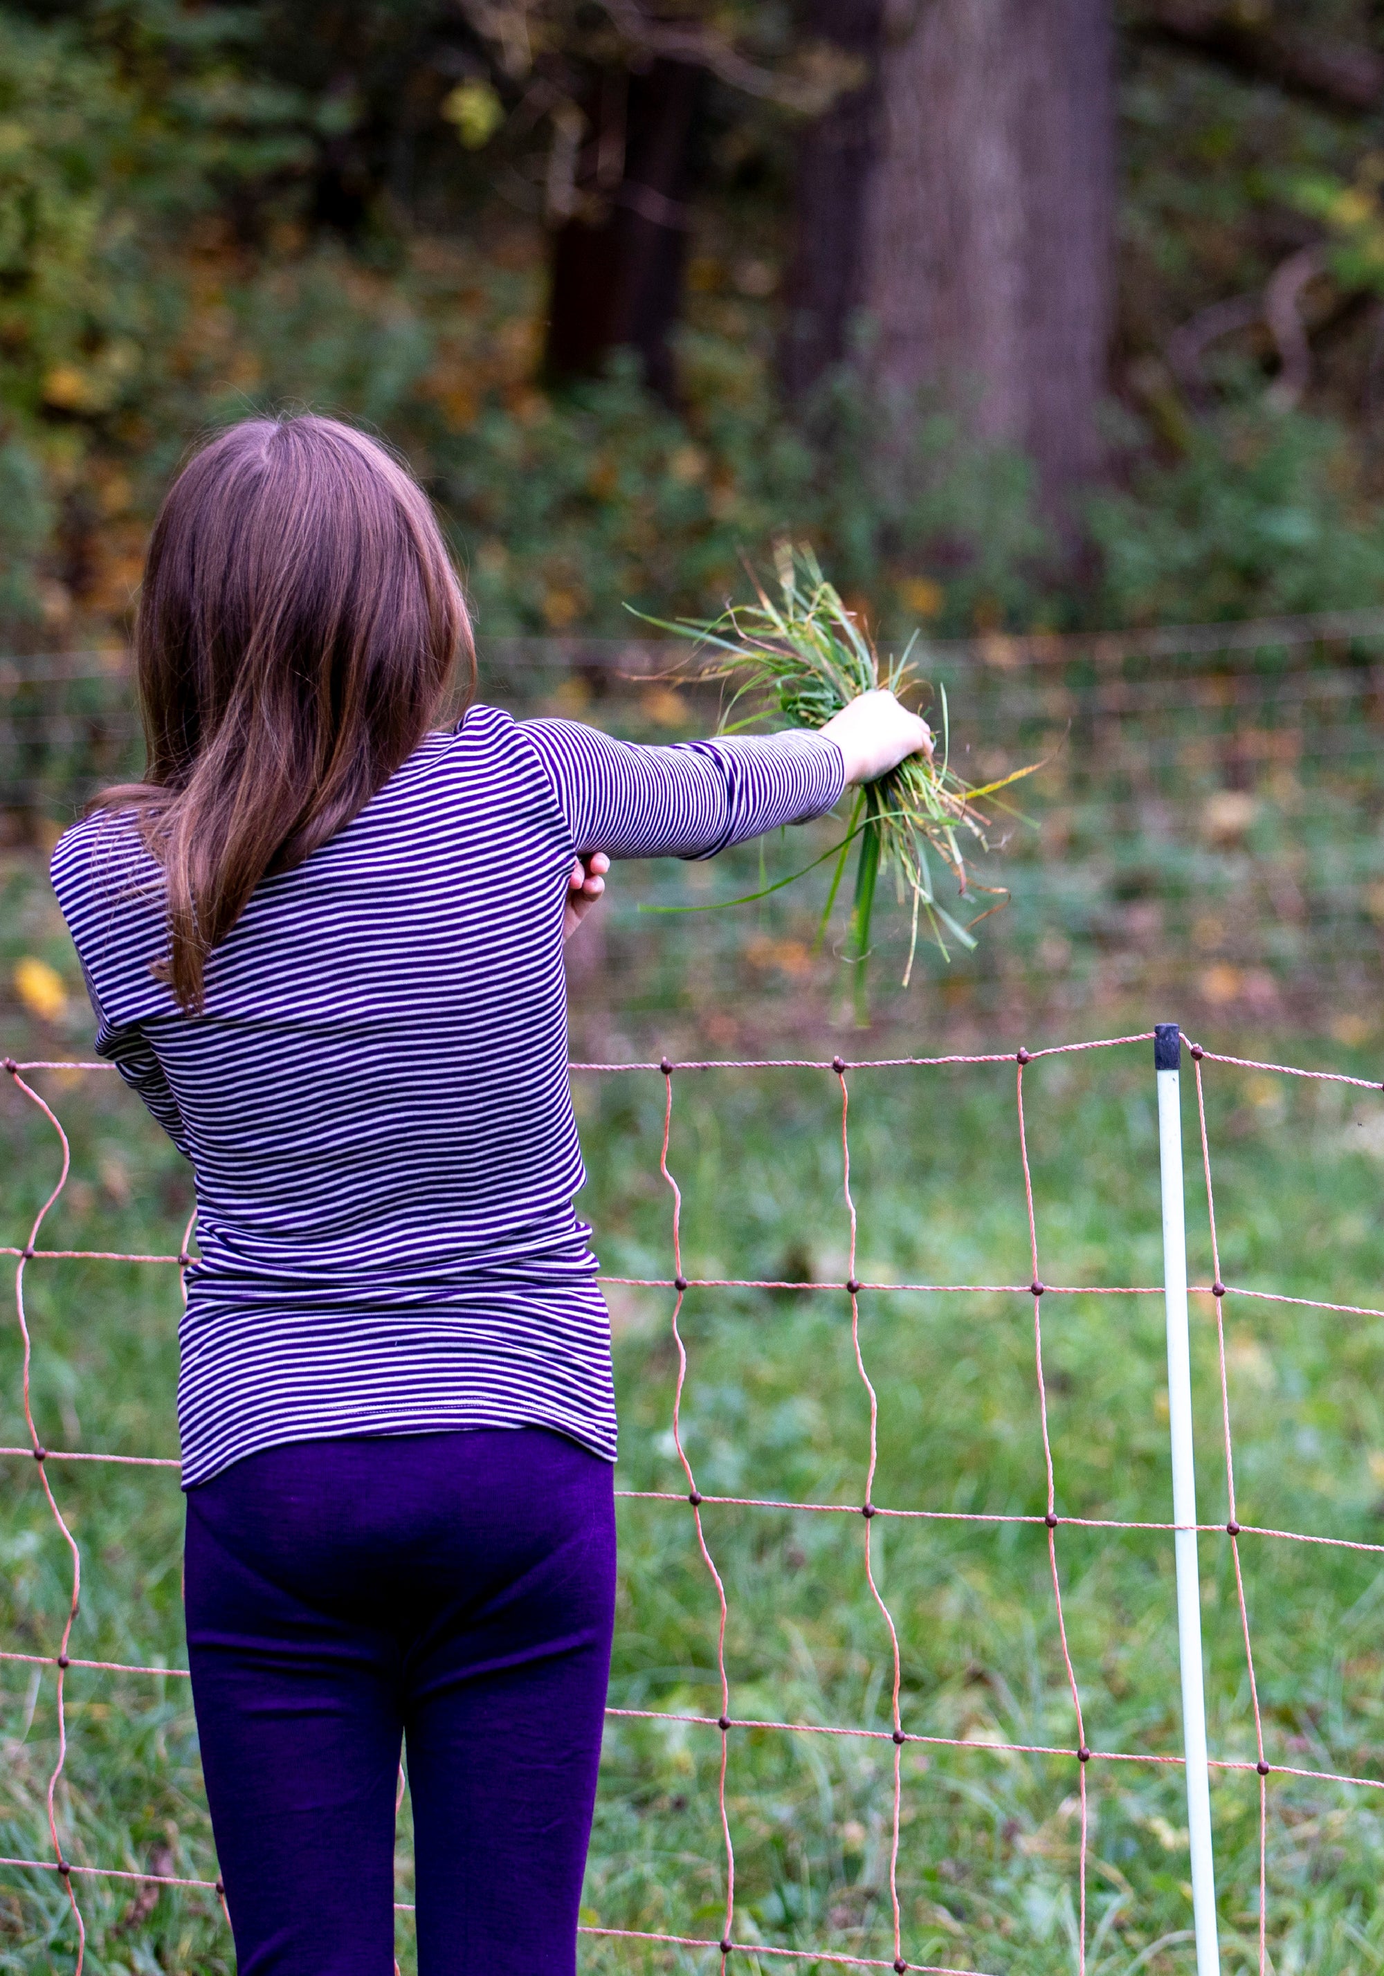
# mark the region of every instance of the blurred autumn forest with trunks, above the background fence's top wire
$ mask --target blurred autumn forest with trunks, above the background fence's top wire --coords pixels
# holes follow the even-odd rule
[[[480,626],[1384,599],[1370,0],[0,8],[0,611],[125,622],[190,437],[364,419]]]

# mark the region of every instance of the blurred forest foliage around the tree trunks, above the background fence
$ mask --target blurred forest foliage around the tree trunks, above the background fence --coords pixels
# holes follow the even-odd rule
[[[575,89],[595,47],[585,16],[565,0],[528,12],[532,75]],[[518,18],[490,10],[496,34],[502,16]],[[807,73],[783,10],[734,8],[712,26],[775,73]],[[1176,401],[1165,366],[1145,395],[1163,395],[1155,423],[1172,451],[1139,429],[1123,482],[1093,504],[1099,555],[1085,563],[1054,553],[1028,462],[965,445],[939,407],[919,407],[904,437],[898,407],[842,375],[789,415],[767,288],[791,124],[726,91],[678,407],[621,360],[603,379],[538,389],[538,138],[520,136],[526,85],[490,28],[441,0],[0,8],[0,638],[119,634],[186,445],[283,403],[362,419],[409,454],[492,634],[619,634],[625,601],[712,613],[741,557],[785,532],[813,539],[850,609],[886,632],[1380,595],[1378,466],[1350,399],[1372,360],[1344,330],[1339,356],[1323,340],[1311,417],[1255,411],[1263,338],[1242,336],[1230,364],[1208,350],[1208,411]],[[1267,281],[1305,225],[1321,229],[1342,304],[1380,287],[1362,126],[1143,45],[1123,111],[1121,342],[1137,401],[1137,366],[1159,370],[1178,322]],[[504,206],[520,180],[532,215]],[[737,290],[745,257],[753,281]]]

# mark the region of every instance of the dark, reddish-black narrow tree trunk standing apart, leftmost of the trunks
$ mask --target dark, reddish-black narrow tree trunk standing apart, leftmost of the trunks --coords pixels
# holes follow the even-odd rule
[[[552,237],[546,375],[599,375],[637,350],[645,381],[672,401],[672,330],[690,227],[692,142],[704,73],[654,59],[611,71],[587,99],[573,211]]]

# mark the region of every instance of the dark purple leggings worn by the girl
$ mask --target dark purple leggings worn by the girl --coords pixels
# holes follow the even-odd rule
[[[615,1610],[609,1462],[542,1429],[306,1441],[188,1492],[188,1650],[239,1976],[571,1976]]]

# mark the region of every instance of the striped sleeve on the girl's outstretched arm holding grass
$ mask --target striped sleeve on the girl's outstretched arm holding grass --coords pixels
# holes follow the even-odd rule
[[[846,786],[834,741],[807,727],[637,747],[577,721],[524,721],[575,852],[714,858],[822,816]]]

